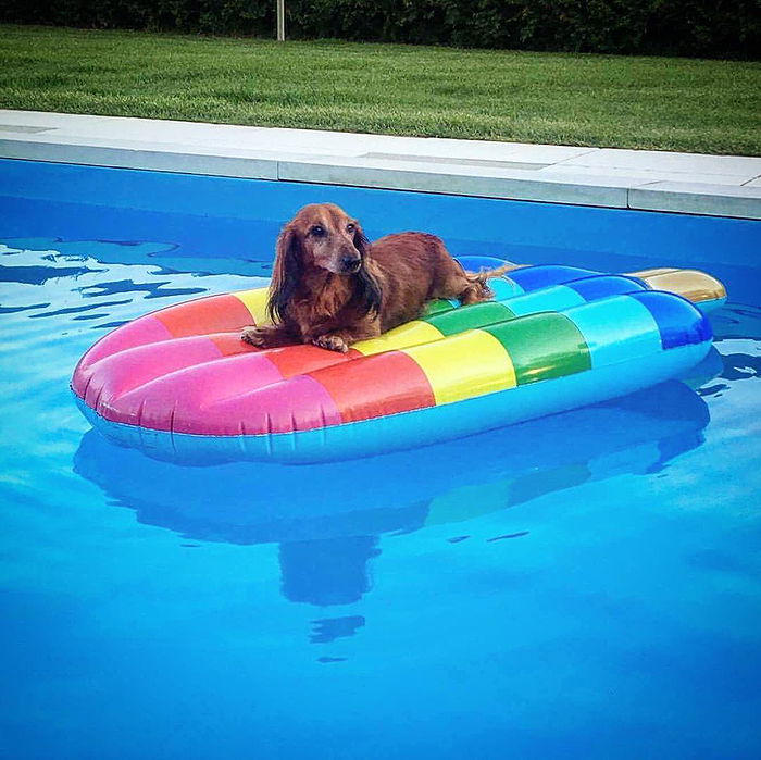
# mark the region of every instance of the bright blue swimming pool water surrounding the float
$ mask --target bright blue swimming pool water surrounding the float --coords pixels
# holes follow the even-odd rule
[[[386,457],[183,468],[89,429],[109,328],[371,237],[727,285],[672,382]],[[0,162],[0,757],[757,758],[758,223]]]

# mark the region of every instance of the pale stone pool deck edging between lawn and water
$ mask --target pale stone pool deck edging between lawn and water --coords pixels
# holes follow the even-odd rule
[[[761,219],[761,158],[0,110],[0,158]]]

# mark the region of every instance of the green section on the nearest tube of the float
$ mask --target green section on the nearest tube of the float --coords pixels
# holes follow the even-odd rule
[[[482,327],[507,349],[519,385],[591,369],[589,347],[563,314],[542,312]]]

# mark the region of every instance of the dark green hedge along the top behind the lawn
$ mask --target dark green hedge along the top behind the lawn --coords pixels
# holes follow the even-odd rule
[[[286,0],[291,39],[758,59],[761,0]],[[0,0],[0,21],[272,37],[262,0]]]

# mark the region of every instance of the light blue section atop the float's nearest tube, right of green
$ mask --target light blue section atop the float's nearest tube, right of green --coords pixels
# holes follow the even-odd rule
[[[661,332],[650,311],[629,296],[613,296],[564,312],[581,331],[592,369],[660,353]]]

